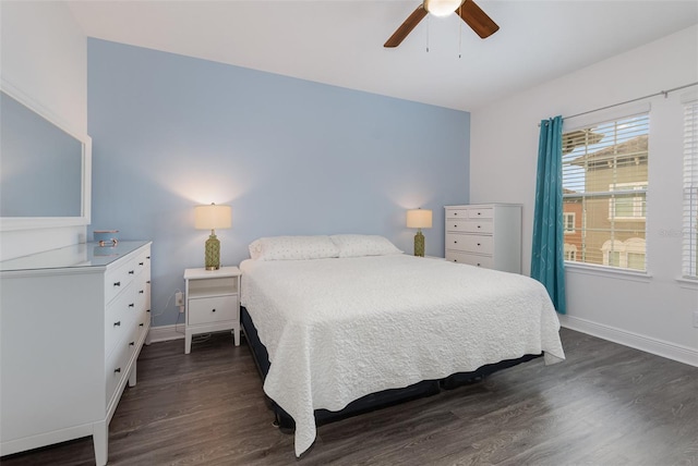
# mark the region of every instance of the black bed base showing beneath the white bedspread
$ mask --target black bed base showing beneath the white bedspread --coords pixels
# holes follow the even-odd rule
[[[262,344],[262,342],[260,341],[257,330],[252,322],[250,314],[244,307],[241,307],[240,309],[240,317],[242,322],[242,331],[244,332],[245,339],[252,352],[252,358],[257,366],[257,370],[260,371],[260,376],[262,376],[262,380],[264,380],[267,372],[269,371],[269,355],[264,344]],[[542,354],[524,355],[522,357],[517,359],[506,359],[495,364],[488,364],[472,372],[458,372],[444,379],[423,380],[404,389],[390,389],[384,390],[382,392],[371,393],[360,397],[359,400],[354,400],[353,402],[349,403],[344,409],[338,412],[315,409],[315,424],[317,426],[321,426],[340,419],[346,419],[348,417],[356,416],[362,413],[393,406],[410,400],[435,395],[442,389],[452,390],[462,384],[482,379],[483,377],[489,376],[490,373],[497,370],[516,366],[518,364],[526,363],[540,356],[542,356]],[[293,421],[293,418],[268,396],[267,402],[276,418],[275,425],[285,432],[293,432],[296,430],[296,422]]]

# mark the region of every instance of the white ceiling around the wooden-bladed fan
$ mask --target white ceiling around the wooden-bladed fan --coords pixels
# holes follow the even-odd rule
[[[696,0],[477,0],[501,27],[490,38],[430,15],[383,48],[419,3],[69,1],[91,37],[459,110],[698,23]]]

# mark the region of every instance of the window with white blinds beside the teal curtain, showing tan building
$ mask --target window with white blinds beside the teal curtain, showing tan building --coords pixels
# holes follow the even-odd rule
[[[566,260],[647,270],[648,139],[648,113],[563,134]]]

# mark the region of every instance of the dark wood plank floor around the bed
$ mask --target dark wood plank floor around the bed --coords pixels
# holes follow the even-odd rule
[[[698,465],[698,368],[563,329],[541,359],[322,426],[311,451],[272,426],[244,344],[216,334],[144,347],[109,431],[110,465]],[[92,465],[92,439],[2,466]]]

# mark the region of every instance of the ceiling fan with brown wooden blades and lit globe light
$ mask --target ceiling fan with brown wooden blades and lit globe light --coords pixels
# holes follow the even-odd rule
[[[472,0],[424,0],[397,28],[383,47],[397,47],[412,32],[420,21],[431,13],[434,16],[458,14],[481,38],[488,38],[500,29],[490,16]]]

